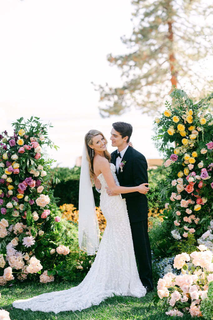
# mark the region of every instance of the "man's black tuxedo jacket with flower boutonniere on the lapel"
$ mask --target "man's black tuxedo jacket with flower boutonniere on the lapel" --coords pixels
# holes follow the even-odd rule
[[[117,149],[111,153],[111,163],[116,165]],[[141,183],[148,183],[147,162],[137,150],[128,147],[125,151],[122,161],[126,161],[123,170],[119,168],[116,175],[120,186],[135,187]],[[148,186],[147,186],[148,187]],[[146,195],[139,192],[124,193],[121,195],[126,199],[127,211],[130,222],[143,221],[148,218],[148,204]]]

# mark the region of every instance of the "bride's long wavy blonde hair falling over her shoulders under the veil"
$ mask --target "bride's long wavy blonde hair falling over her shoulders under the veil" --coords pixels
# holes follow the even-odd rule
[[[90,170],[90,179],[91,182],[93,184],[93,175],[94,170],[93,170],[93,156],[92,156],[92,148],[89,147],[90,144],[92,144],[92,139],[97,136],[98,134],[101,134],[104,138],[104,140],[106,141],[107,144],[107,140],[105,138],[105,136],[103,135],[102,132],[98,131],[98,130],[90,130],[89,132],[86,133],[85,137],[84,137],[84,142],[85,142],[85,148],[86,148],[86,156],[87,156],[87,161],[89,162],[89,170]],[[104,151],[104,156],[105,158],[110,162],[110,153],[106,150]]]

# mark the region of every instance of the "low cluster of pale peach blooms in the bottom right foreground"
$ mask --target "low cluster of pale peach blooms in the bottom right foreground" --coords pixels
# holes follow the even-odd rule
[[[213,255],[204,245],[197,248],[198,252],[176,255],[173,266],[181,269],[180,275],[169,272],[158,280],[157,293],[164,300],[163,305],[168,306],[169,316],[182,317],[184,313],[202,316],[202,302],[208,297],[209,284],[213,281]]]

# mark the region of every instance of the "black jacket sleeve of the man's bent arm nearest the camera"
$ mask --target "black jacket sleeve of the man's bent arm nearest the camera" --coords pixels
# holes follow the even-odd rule
[[[138,156],[133,160],[133,184],[125,185],[123,187],[135,187],[142,183],[148,183],[147,162],[145,156]],[[146,186],[148,187],[148,186]],[[139,192],[131,192],[122,194],[122,198],[130,198],[140,195]]]

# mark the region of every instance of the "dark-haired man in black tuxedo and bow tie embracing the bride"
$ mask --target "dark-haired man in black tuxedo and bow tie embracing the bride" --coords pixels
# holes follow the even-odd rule
[[[111,153],[111,163],[116,166],[116,175],[120,186],[134,187],[148,183],[147,162],[137,150],[128,146],[132,134],[131,124],[113,123],[110,140],[117,150]],[[97,183],[96,188],[100,187]],[[147,191],[149,188],[147,188]],[[114,196],[106,189],[109,196]],[[134,251],[139,264],[139,276],[146,291],[153,290],[152,258],[148,236],[148,204],[145,194],[139,192],[121,194],[126,199],[130,220]]]

